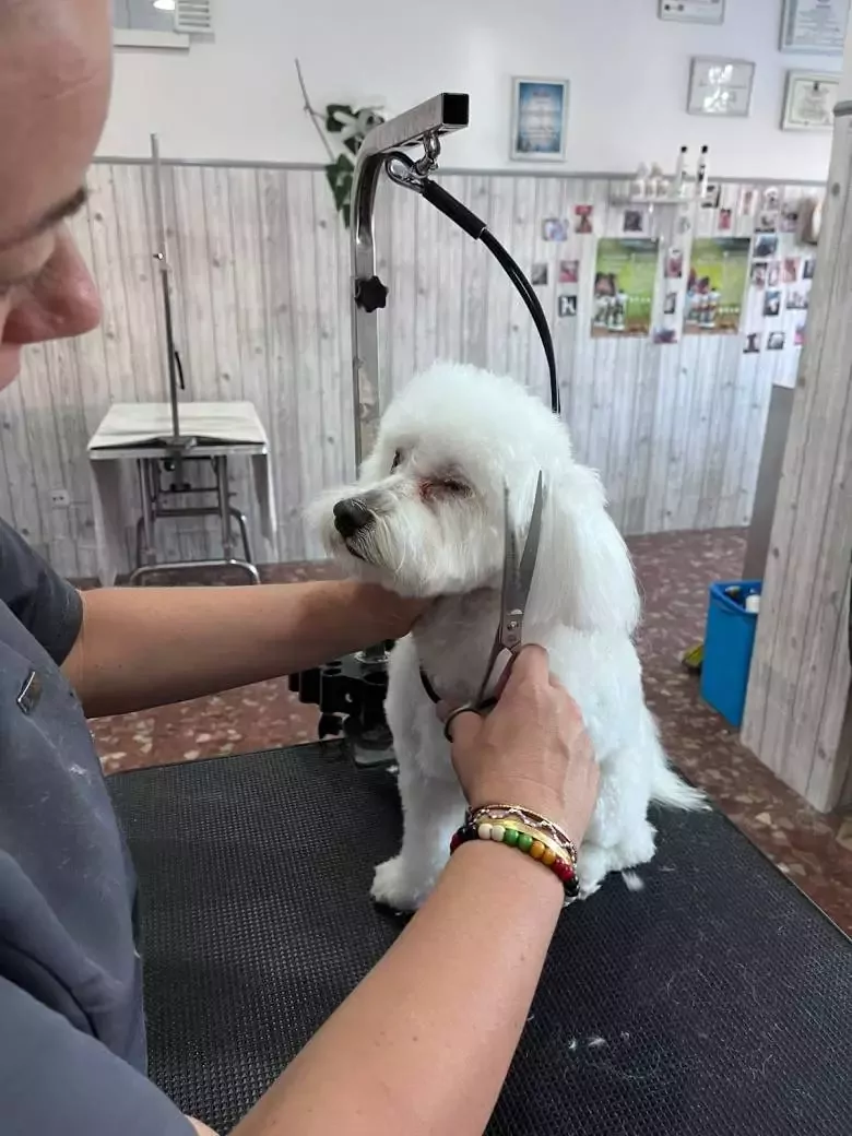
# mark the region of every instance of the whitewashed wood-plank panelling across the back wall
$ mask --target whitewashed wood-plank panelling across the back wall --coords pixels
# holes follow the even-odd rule
[[[626,533],[747,523],[772,382],[792,383],[801,312],[782,312],[783,351],[743,354],[742,335],[687,335],[678,344],[593,340],[595,235],[621,235],[626,186],[605,178],[448,176],[448,189],[485,217],[529,270],[548,261],[538,294],[552,320],[565,415],[579,458],[598,467]],[[99,331],[32,349],[19,383],[0,396],[0,513],[61,571],[94,575],[86,441],[110,401],[166,398],[165,336],[153,272],[151,170],[99,164],[91,198],[73,222],[103,298]],[[187,398],[250,399],[273,445],[281,520],[266,557],[298,560],[319,549],[302,506],[353,473],[349,340],[349,240],[321,170],[166,166],[165,200],[176,278],[176,335]],[[802,186],[782,187],[800,200]],[[724,184],[733,234],[742,186]],[[595,235],[542,240],[542,219],[594,208]],[[662,249],[712,235],[718,210],[658,206],[646,235]],[[391,287],[383,315],[383,399],[436,358],[509,371],[544,395],[546,370],[532,321],[487,252],[418,197],[385,186],[377,226],[379,275]],[[574,226],[571,226],[574,227]],[[787,245],[793,236],[783,237]],[[787,250],[790,251],[790,249]],[[783,252],[782,252],[783,254]],[[808,254],[800,250],[800,254]],[[560,259],[580,262],[575,318],[558,318]],[[680,282],[680,287],[685,282]],[[658,308],[671,282],[658,282]],[[743,331],[763,327],[762,296],[749,294]],[[755,307],[757,306],[757,307]],[[751,324],[746,326],[746,323]],[[770,326],[770,325],[767,325]],[[237,488],[260,541],[248,468]],[[70,506],[51,493],[65,488]],[[128,552],[135,503],[127,499]],[[202,521],[176,524],[169,553],[216,551]],[[264,559],[264,557],[261,557]]]

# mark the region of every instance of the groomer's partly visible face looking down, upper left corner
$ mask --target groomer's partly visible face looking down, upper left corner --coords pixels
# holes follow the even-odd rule
[[[26,343],[98,323],[64,224],[107,112],[108,0],[0,0],[0,387]]]

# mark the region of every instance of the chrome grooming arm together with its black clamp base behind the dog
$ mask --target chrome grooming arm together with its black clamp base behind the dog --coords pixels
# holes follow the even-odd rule
[[[376,275],[374,215],[382,172],[406,185],[407,173],[425,177],[437,164],[441,137],[469,123],[467,94],[436,94],[419,107],[374,127],[364,140],[352,181],[350,245],[352,261],[352,409],[356,462],[360,468],[376,437],[378,401],[378,311],[387,287]],[[409,160],[400,151],[421,147]],[[392,759],[391,736],[382,705],[387,688],[392,643],[379,643],[345,659],[292,675],[290,688],[300,701],[320,709],[319,736],[344,732],[354,744],[356,761],[373,766]]]

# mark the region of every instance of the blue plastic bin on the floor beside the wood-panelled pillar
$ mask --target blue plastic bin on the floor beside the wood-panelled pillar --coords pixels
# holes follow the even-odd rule
[[[757,612],[745,610],[745,600],[760,595],[760,585],[757,579],[710,585],[701,696],[736,729],[743,720],[758,623]],[[734,588],[738,588],[735,594]]]

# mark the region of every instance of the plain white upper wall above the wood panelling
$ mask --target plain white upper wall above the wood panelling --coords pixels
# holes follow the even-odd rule
[[[727,0],[720,27],[663,23],[657,0],[217,0],[215,42],[189,55],[123,49],[101,153],[143,156],[157,131],[169,157],[317,162],[293,57],[314,102],[383,95],[403,110],[440,90],[471,95],[471,127],[445,165],[499,169],[508,152],[509,80],[573,84],[574,172],[674,165],[682,144],[711,148],[711,173],[821,179],[830,135],[778,128],[787,69],[841,60],[777,50],[782,0]],[[757,62],[749,119],[685,110],[690,58]],[[515,164],[511,164],[512,166]]]

